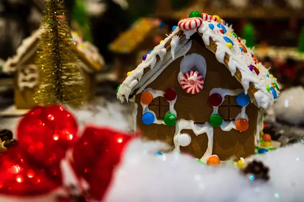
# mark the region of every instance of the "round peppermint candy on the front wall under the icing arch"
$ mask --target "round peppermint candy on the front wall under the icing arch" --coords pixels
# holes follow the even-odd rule
[[[198,71],[188,71],[183,74],[180,80],[181,87],[191,94],[197,94],[204,88],[205,80]]]

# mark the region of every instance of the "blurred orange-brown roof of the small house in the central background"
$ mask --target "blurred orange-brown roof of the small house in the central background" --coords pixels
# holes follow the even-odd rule
[[[129,54],[146,38],[155,28],[163,23],[156,18],[140,18],[131,27],[121,33],[110,45],[113,53]]]

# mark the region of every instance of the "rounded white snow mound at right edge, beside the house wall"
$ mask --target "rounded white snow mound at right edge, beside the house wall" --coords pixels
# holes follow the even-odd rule
[[[274,106],[277,119],[292,125],[304,124],[304,88],[291,87],[281,92]]]

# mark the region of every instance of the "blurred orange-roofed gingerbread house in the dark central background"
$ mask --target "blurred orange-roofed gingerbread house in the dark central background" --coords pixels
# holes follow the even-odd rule
[[[167,30],[164,23],[155,18],[140,18],[123,32],[110,45],[110,51],[115,54],[115,69],[118,79],[123,80],[127,72],[142,60],[142,54],[147,53],[164,38]]]

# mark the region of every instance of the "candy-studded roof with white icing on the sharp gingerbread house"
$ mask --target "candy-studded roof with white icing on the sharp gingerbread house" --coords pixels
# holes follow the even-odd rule
[[[209,16],[210,17],[210,16]],[[210,17],[211,18],[211,17]],[[162,71],[174,60],[185,56],[192,46],[190,37],[199,34],[205,46],[214,53],[218,62],[226,66],[248,93],[251,102],[257,107],[268,108],[273,105],[280,93],[277,79],[269,73],[253,55],[252,49],[246,47],[246,41],[237,37],[232,26],[227,27],[213,20],[203,21],[202,18],[188,18],[184,23],[197,21],[197,26],[192,29],[189,24],[179,25],[174,31],[157,45],[147,55],[135,70],[125,79],[118,89],[117,97],[124,102],[153,82]],[[195,26],[195,23],[192,24]]]

